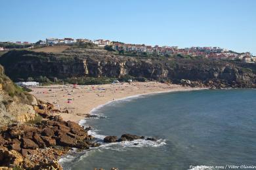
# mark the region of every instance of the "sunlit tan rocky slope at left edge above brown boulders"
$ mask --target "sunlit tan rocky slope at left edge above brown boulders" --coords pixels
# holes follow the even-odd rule
[[[0,126],[33,120],[32,105],[37,105],[35,97],[16,87],[0,65]]]

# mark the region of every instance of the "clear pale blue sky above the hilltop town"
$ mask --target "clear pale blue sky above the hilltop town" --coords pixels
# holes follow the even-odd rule
[[[0,9],[0,41],[109,39],[256,55],[255,0],[8,0]]]

